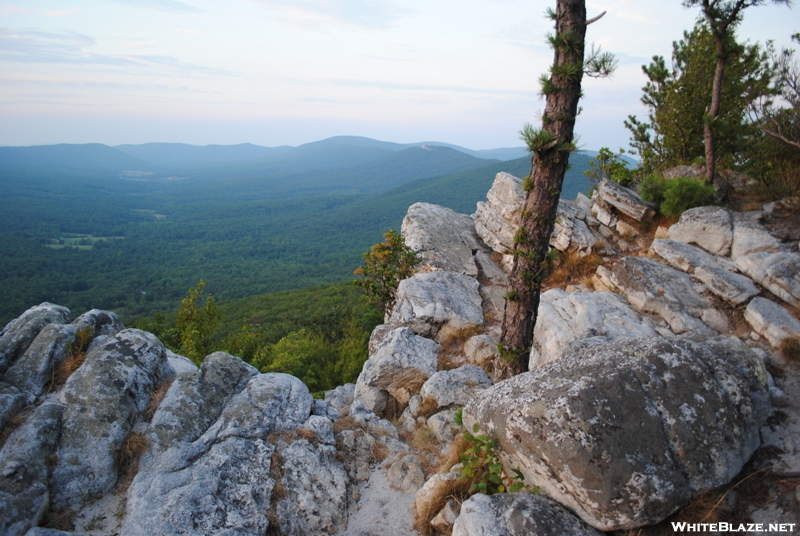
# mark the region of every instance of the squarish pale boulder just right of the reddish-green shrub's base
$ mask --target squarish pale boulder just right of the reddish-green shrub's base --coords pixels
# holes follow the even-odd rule
[[[389,322],[422,336],[483,325],[479,283],[454,272],[418,272],[397,287]]]

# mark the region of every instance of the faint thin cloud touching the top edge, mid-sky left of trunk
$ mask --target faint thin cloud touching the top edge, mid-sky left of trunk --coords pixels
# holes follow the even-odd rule
[[[314,19],[364,28],[386,28],[409,10],[390,0],[250,0],[287,14],[290,22]],[[310,20],[309,20],[310,19]]]

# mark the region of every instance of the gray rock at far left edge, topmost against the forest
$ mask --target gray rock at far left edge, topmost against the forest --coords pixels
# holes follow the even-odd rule
[[[31,307],[0,331],[0,378],[47,324],[69,322],[69,309],[52,303]]]

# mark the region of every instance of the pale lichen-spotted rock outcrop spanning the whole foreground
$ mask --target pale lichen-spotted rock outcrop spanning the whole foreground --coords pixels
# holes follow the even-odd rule
[[[494,383],[522,196],[501,173],[472,216],[409,208],[419,271],[324,400],[226,353],[198,367],[110,312],[26,311],[0,331],[0,534],[110,525],[117,504],[92,536],[411,536],[412,512],[457,536],[596,536],[729,485],[762,441],[800,472],[800,382],[770,356],[800,336],[800,254],[768,211],[700,207],[651,240],[632,190],[561,200],[551,246],[604,265],[543,293],[530,372]],[[464,487],[458,465],[431,474],[458,408],[542,495],[442,500]]]

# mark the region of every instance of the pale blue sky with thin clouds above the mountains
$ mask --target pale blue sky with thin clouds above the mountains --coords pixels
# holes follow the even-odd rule
[[[627,147],[641,66],[698,8],[587,0],[580,147]],[[517,147],[538,122],[555,0],[0,0],[0,145],[300,145],[337,135]],[[789,46],[800,7],[745,11],[740,39]]]

